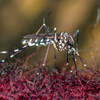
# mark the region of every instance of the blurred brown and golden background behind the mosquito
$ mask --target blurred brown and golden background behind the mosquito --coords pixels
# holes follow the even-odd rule
[[[92,56],[95,57],[94,41],[89,33],[90,27],[95,23],[98,9],[97,0],[0,0],[0,51],[21,48],[23,36],[35,33],[42,25],[43,17],[49,12],[51,15],[46,19],[46,24],[51,29],[57,28],[60,33],[66,31],[73,35],[76,30],[79,33],[80,55],[90,64]],[[100,49],[100,23],[92,29],[92,34],[98,42]],[[41,32],[44,32],[42,30]],[[47,47],[41,47],[36,60],[31,59],[31,63],[37,62],[45,55]],[[26,56],[36,51],[36,47],[25,50]],[[100,52],[100,50],[99,50]],[[58,54],[58,52],[57,52]],[[23,57],[23,52],[18,54]],[[0,60],[7,58],[7,54],[0,54]],[[70,62],[72,58],[69,57]],[[51,46],[47,58],[49,63],[53,63],[53,46]],[[57,65],[66,64],[66,53],[62,52],[57,56]],[[70,63],[73,65],[73,63]],[[81,65],[79,59],[77,65]]]

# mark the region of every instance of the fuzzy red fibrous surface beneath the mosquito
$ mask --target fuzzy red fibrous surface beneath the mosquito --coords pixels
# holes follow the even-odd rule
[[[44,68],[34,79],[36,72],[29,76],[15,72],[1,75],[0,100],[100,100],[100,78],[96,74],[84,71],[74,79],[68,72]]]

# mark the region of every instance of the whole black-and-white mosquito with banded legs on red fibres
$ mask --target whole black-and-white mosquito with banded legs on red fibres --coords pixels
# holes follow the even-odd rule
[[[74,33],[73,36],[71,36],[67,32],[61,32],[61,33],[57,34],[56,27],[51,29],[51,30],[48,29],[48,27],[45,24],[45,18],[43,18],[43,24],[39,28],[39,30],[36,32],[36,34],[31,34],[31,35],[24,36],[24,39],[22,39],[22,45],[24,45],[24,46],[22,48],[15,49],[15,50],[12,50],[12,51],[1,51],[0,53],[10,53],[10,52],[15,52],[15,53],[13,55],[11,55],[10,57],[2,60],[0,63],[4,63],[8,59],[13,58],[15,55],[17,55],[23,49],[26,49],[28,47],[32,47],[32,46],[47,46],[48,45],[47,51],[46,51],[46,54],[45,54],[45,57],[44,57],[44,61],[43,61],[43,64],[42,64],[42,67],[40,68],[40,70],[37,73],[37,75],[39,75],[41,70],[42,70],[42,68],[43,68],[43,66],[45,66],[50,45],[53,44],[53,46],[54,46],[54,67],[55,68],[57,68],[56,67],[56,50],[59,51],[59,52],[63,52],[63,51],[66,50],[66,65],[70,69],[71,73],[72,73],[72,70],[69,67],[68,54],[73,56],[73,62],[74,62],[75,69],[76,69],[76,75],[77,75],[77,66],[76,66],[76,62],[75,62],[75,60],[76,60],[75,59],[75,55],[78,56],[78,58],[80,59],[80,61],[83,64],[83,66],[86,67],[86,69],[90,70],[87,67],[87,65],[84,63],[84,61],[82,60],[82,58],[80,57],[79,52],[78,52],[79,30],[77,30]],[[45,28],[46,33],[45,34],[38,34],[43,27]],[[54,33],[51,33],[52,31],[54,31]],[[74,48],[74,44],[75,44],[74,37],[75,36],[77,38],[76,39],[76,49]],[[91,72],[93,72],[93,71],[91,71]]]

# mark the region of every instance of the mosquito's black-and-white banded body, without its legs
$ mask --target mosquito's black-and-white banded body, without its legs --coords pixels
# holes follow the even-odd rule
[[[47,35],[45,38],[39,39],[43,35],[44,34],[27,35],[24,37],[26,39],[22,40],[22,44],[29,46],[47,46],[48,44],[53,44],[54,48],[61,52],[66,50],[67,46],[70,52],[71,47],[74,46],[74,40],[67,32],[58,34],[59,36],[56,39],[54,35]]]

